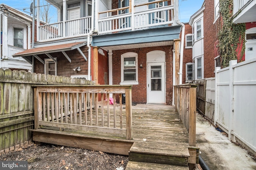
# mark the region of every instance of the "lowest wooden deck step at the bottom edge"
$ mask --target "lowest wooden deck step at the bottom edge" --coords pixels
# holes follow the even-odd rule
[[[188,166],[129,161],[125,170],[188,170]]]

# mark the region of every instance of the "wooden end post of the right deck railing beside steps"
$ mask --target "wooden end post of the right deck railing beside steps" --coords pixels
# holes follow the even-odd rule
[[[188,145],[196,146],[196,88],[189,88]]]

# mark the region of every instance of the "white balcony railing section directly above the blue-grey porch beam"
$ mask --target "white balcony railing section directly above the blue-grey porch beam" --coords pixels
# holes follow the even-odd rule
[[[121,13],[124,10],[128,11],[128,9],[130,9],[129,7],[99,12],[98,31],[99,33],[111,33],[116,31],[134,30],[157,25],[172,24],[174,21],[174,5],[172,0],[170,1],[171,5],[149,9],[149,4],[160,2],[164,3],[165,1],[168,0],[135,5],[135,12],[132,12],[132,10],[130,10],[129,13],[125,14],[119,13]],[[142,6],[145,6],[145,10],[137,10],[137,8],[141,9]],[[116,15],[114,15],[114,13],[116,13]]]

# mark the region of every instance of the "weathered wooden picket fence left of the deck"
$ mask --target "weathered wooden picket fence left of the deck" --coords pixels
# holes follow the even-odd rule
[[[0,153],[31,141],[36,84],[94,84],[79,78],[0,69]]]

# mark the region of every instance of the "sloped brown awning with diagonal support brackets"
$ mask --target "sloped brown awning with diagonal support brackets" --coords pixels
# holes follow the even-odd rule
[[[52,45],[52,46],[46,46],[46,47],[38,47],[33,49],[28,49],[25,51],[22,51],[20,53],[16,53],[12,55],[12,57],[23,57],[26,61],[28,61],[30,64],[32,63],[32,57],[35,57],[40,62],[44,64],[44,61],[42,61],[37,55],[40,54],[46,54],[49,58],[52,58],[49,53],[56,53],[56,52],[62,52],[66,59],[71,63],[71,59],[68,57],[65,51],[70,51],[73,49],[77,49],[79,53],[84,57],[84,59],[87,61],[86,56],[82,53],[80,50],[80,47],[86,45],[86,42],[76,42],[76,43],[68,43],[68,44],[61,44],[61,45]]]

